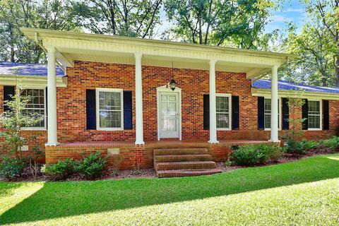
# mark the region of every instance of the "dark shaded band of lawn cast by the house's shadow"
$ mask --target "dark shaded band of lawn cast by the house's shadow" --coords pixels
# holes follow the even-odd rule
[[[238,169],[208,177],[47,182],[0,216],[0,225],[64,218],[162,203],[227,196],[339,177],[339,155]]]

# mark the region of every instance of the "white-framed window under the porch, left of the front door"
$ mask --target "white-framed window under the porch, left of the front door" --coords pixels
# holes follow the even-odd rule
[[[122,90],[97,88],[96,99],[97,129],[122,130],[124,128]]]

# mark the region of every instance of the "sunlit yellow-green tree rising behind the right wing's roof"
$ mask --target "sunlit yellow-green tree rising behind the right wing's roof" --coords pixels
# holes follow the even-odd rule
[[[299,35],[295,27],[291,28],[286,46],[287,52],[297,58],[287,64],[290,71],[285,78],[298,83],[336,85],[333,64],[335,44],[319,18],[305,23]]]

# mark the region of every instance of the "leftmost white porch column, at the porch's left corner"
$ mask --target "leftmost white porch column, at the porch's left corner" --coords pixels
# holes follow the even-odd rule
[[[48,71],[47,71],[47,146],[56,146],[58,143],[57,136],[57,83],[55,67],[55,49],[47,48]]]

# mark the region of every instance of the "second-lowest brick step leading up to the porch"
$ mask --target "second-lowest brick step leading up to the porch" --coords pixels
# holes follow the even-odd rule
[[[155,170],[170,169],[215,169],[213,161],[155,162]]]

